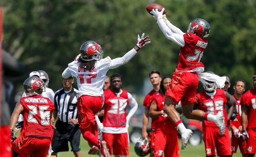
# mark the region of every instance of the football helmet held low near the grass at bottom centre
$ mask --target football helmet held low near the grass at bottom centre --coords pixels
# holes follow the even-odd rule
[[[136,154],[139,156],[148,155],[150,152],[149,140],[148,139],[143,140],[143,138],[140,138],[140,140],[138,140],[136,142],[136,144],[134,145],[134,150],[135,150]]]

